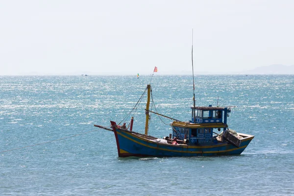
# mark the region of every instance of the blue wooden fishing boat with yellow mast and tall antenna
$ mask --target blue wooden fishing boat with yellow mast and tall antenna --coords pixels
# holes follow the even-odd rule
[[[192,38],[193,39],[193,38]],[[193,106],[192,117],[187,121],[180,121],[171,117],[149,110],[150,98],[152,98],[151,81],[145,89],[147,92],[145,134],[133,131],[133,117],[130,120],[130,128],[110,121],[110,127],[94,125],[99,128],[114,132],[119,157],[176,157],[176,156],[221,156],[241,154],[253,135],[238,133],[228,127],[228,117],[231,108],[235,106],[196,106],[195,82],[193,68],[193,44],[192,44],[192,69],[193,69]],[[157,72],[155,67],[154,72]],[[153,74],[152,74],[153,76]],[[152,79],[152,77],[151,77]],[[151,94],[151,96],[150,96]],[[140,99],[142,99],[141,96]],[[137,103],[141,102],[139,100]],[[151,100],[154,104],[154,101]],[[134,107],[135,108],[135,107]],[[155,107],[154,107],[155,108]],[[170,124],[172,133],[162,138],[148,135],[150,114],[173,120]]]

